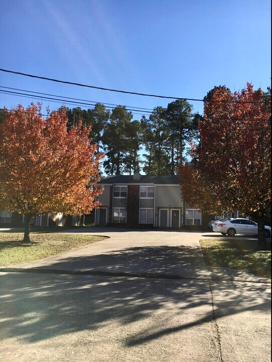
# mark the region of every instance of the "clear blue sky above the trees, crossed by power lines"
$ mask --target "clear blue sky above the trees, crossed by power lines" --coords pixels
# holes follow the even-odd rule
[[[0,0],[0,68],[202,99],[214,85],[270,83],[270,1]],[[153,109],[169,100],[0,72],[0,85]],[[32,100],[0,93],[0,108]],[[191,102],[202,113],[202,102]],[[43,100],[43,106],[60,104]],[[134,119],[140,119],[135,115]]]

